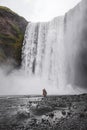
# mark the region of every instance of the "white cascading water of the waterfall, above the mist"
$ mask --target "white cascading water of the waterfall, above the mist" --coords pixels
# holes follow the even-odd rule
[[[45,77],[53,85],[65,87],[63,16],[51,22],[28,24],[22,48],[22,67],[29,75]]]

